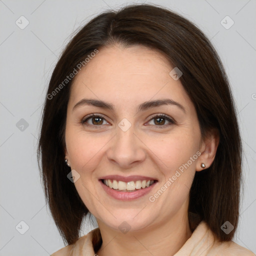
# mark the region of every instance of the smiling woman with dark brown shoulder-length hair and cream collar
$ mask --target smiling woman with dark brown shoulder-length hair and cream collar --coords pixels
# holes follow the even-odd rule
[[[52,73],[38,159],[59,255],[254,255],[231,241],[241,142],[222,64],[162,7],[104,12]],[[98,228],[79,238],[82,220]]]

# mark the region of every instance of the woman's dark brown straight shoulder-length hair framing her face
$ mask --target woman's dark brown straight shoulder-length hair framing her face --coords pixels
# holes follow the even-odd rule
[[[204,220],[220,240],[231,240],[238,222],[241,172],[241,141],[228,80],[209,39],[182,16],[151,4],[136,4],[119,11],[103,12],[85,24],[67,44],[50,79],[43,109],[38,144],[38,164],[44,193],[53,219],[68,244],[79,238],[88,209],[66,177],[64,131],[72,79],[63,80],[95,49],[119,43],[144,45],[160,51],[193,102],[202,136],[215,128],[220,140],[215,159],[206,170],[196,172],[189,199],[189,217]],[[60,88],[56,91],[56,88]],[[55,93],[52,93],[55,91]],[[54,94],[54,96],[52,96]],[[49,96],[51,95],[51,96]],[[224,233],[228,220],[234,229]]]

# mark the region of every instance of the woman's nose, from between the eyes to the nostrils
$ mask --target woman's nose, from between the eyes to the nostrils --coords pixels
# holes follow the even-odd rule
[[[116,127],[116,135],[111,139],[106,152],[109,161],[120,168],[131,168],[145,159],[145,145],[131,126],[123,131]]]

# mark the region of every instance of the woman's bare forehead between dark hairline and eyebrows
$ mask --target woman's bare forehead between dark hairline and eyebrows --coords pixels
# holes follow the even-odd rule
[[[139,104],[152,98],[189,98],[179,80],[169,72],[172,66],[157,50],[145,46],[102,48],[74,77],[69,101],[83,97]]]

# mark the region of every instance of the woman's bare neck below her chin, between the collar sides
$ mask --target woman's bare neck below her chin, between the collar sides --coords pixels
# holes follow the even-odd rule
[[[123,234],[98,222],[102,245],[98,256],[174,255],[191,236],[187,214],[179,212],[168,221],[157,223],[147,230]]]

